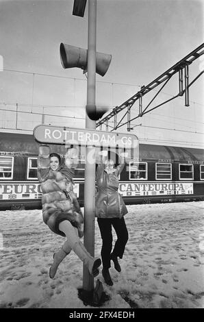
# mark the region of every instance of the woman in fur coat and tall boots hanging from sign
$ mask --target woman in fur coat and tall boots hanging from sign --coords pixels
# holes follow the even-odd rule
[[[57,153],[50,153],[48,146],[39,147],[38,180],[42,189],[42,217],[50,230],[60,236],[66,236],[62,249],[53,255],[53,264],[49,276],[55,273],[68,253],[75,251],[84,262],[90,274],[97,276],[100,258],[93,258],[79,238],[84,234],[84,219],[77,197],[73,192],[73,176],[76,158],[69,151],[62,163]]]

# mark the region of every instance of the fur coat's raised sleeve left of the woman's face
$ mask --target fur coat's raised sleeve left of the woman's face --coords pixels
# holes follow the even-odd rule
[[[50,148],[47,145],[40,145],[38,154],[38,181],[44,182],[49,177],[49,154]]]

